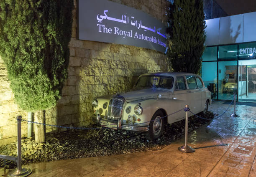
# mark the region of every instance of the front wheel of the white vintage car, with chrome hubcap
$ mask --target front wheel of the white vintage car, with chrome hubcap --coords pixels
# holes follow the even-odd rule
[[[149,130],[146,131],[146,138],[148,140],[154,140],[159,138],[163,134],[164,130],[164,114],[158,110],[152,116],[151,122],[149,123]]]

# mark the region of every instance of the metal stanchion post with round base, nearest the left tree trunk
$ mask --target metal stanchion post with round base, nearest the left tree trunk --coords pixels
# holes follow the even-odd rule
[[[21,167],[21,116],[17,116],[17,124],[18,124],[18,161],[17,161],[17,169],[13,169],[8,173],[8,177],[26,177],[31,174],[31,169],[27,167]]]

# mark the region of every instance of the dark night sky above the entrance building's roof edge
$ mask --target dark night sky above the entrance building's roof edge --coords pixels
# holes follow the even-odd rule
[[[228,15],[256,11],[256,0],[215,0]]]

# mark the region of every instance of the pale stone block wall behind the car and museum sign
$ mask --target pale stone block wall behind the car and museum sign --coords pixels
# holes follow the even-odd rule
[[[166,23],[166,0],[113,1],[142,10]],[[154,50],[77,40],[77,5],[76,2],[74,4],[68,78],[57,105],[46,110],[46,124],[88,126],[91,123],[93,97],[127,90],[142,73],[168,70],[166,55]],[[8,144],[17,138],[15,117],[22,115],[27,119],[27,113],[13,102],[2,59],[0,82],[0,144]],[[46,132],[64,130],[46,126]],[[22,134],[27,134],[26,123],[22,123]]]

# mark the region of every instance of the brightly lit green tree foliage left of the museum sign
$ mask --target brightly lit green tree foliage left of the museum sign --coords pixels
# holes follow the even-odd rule
[[[0,56],[20,108],[55,106],[67,78],[73,0],[1,0]]]

